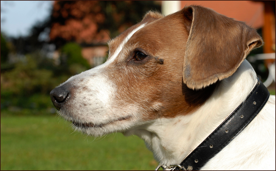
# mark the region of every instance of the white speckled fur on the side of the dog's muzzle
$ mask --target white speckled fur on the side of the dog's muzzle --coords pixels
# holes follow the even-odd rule
[[[82,79],[82,81],[81,81]],[[114,86],[108,81],[106,76],[102,74],[101,68],[94,68],[93,70],[87,70],[78,75],[72,76],[63,84],[70,83],[73,86],[77,86],[74,90],[74,101],[67,102],[70,109],[61,109],[60,114],[69,120],[81,120],[83,122],[89,122],[93,120],[95,124],[101,124],[108,122],[110,117],[107,117],[108,108],[112,95],[114,94]],[[62,85],[63,85],[62,84]],[[83,91],[83,88],[86,91]],[[83,107],[85,105],[85,107]],[[91,110],[95,115],[88,115]],[[64,114],[70,112],[70,115]]]

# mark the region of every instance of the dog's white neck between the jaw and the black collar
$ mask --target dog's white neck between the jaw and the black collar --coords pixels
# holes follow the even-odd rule
[[[143,139],[161,164],[180,164],[245,100],[256,82],[256,73],[245,60],[232,76],[220,81],[212,96],[197,111],[147,121],[124,134],[135,134]]]

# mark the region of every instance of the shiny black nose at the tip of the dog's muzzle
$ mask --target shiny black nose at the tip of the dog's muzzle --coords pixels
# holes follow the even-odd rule
[[[71,97],[68,85],[64,84],[60,87],[54,88],[50,92],[50,97],[56,109],[60,110],[62,104],[68,101],[69,98]]]

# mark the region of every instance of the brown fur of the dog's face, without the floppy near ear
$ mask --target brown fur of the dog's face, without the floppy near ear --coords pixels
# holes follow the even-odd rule
[[[216,85],[195,91],[182,81],[188,38],[182,13],[162,19],[147,17],[150,23],[128,40],[119,57],[107,68],[109,78],[117,85],[113,105],[136,106],[144,120],[192,113],[210,97]],[[114,39],[111,48],[116,47],[113,43],[118,45],[121,41],[119,37]],[[130,61],[137,50],[148,57],[139,62]]]

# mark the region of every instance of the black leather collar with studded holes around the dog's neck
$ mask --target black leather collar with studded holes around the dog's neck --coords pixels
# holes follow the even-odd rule
[[[180,165],[174,165],[170,168],[174,168],[174,170],[200,170],[209,159],[228,145],[257,116],[268,98],[269,91],[258,80],[246,100],[198,145]]]

